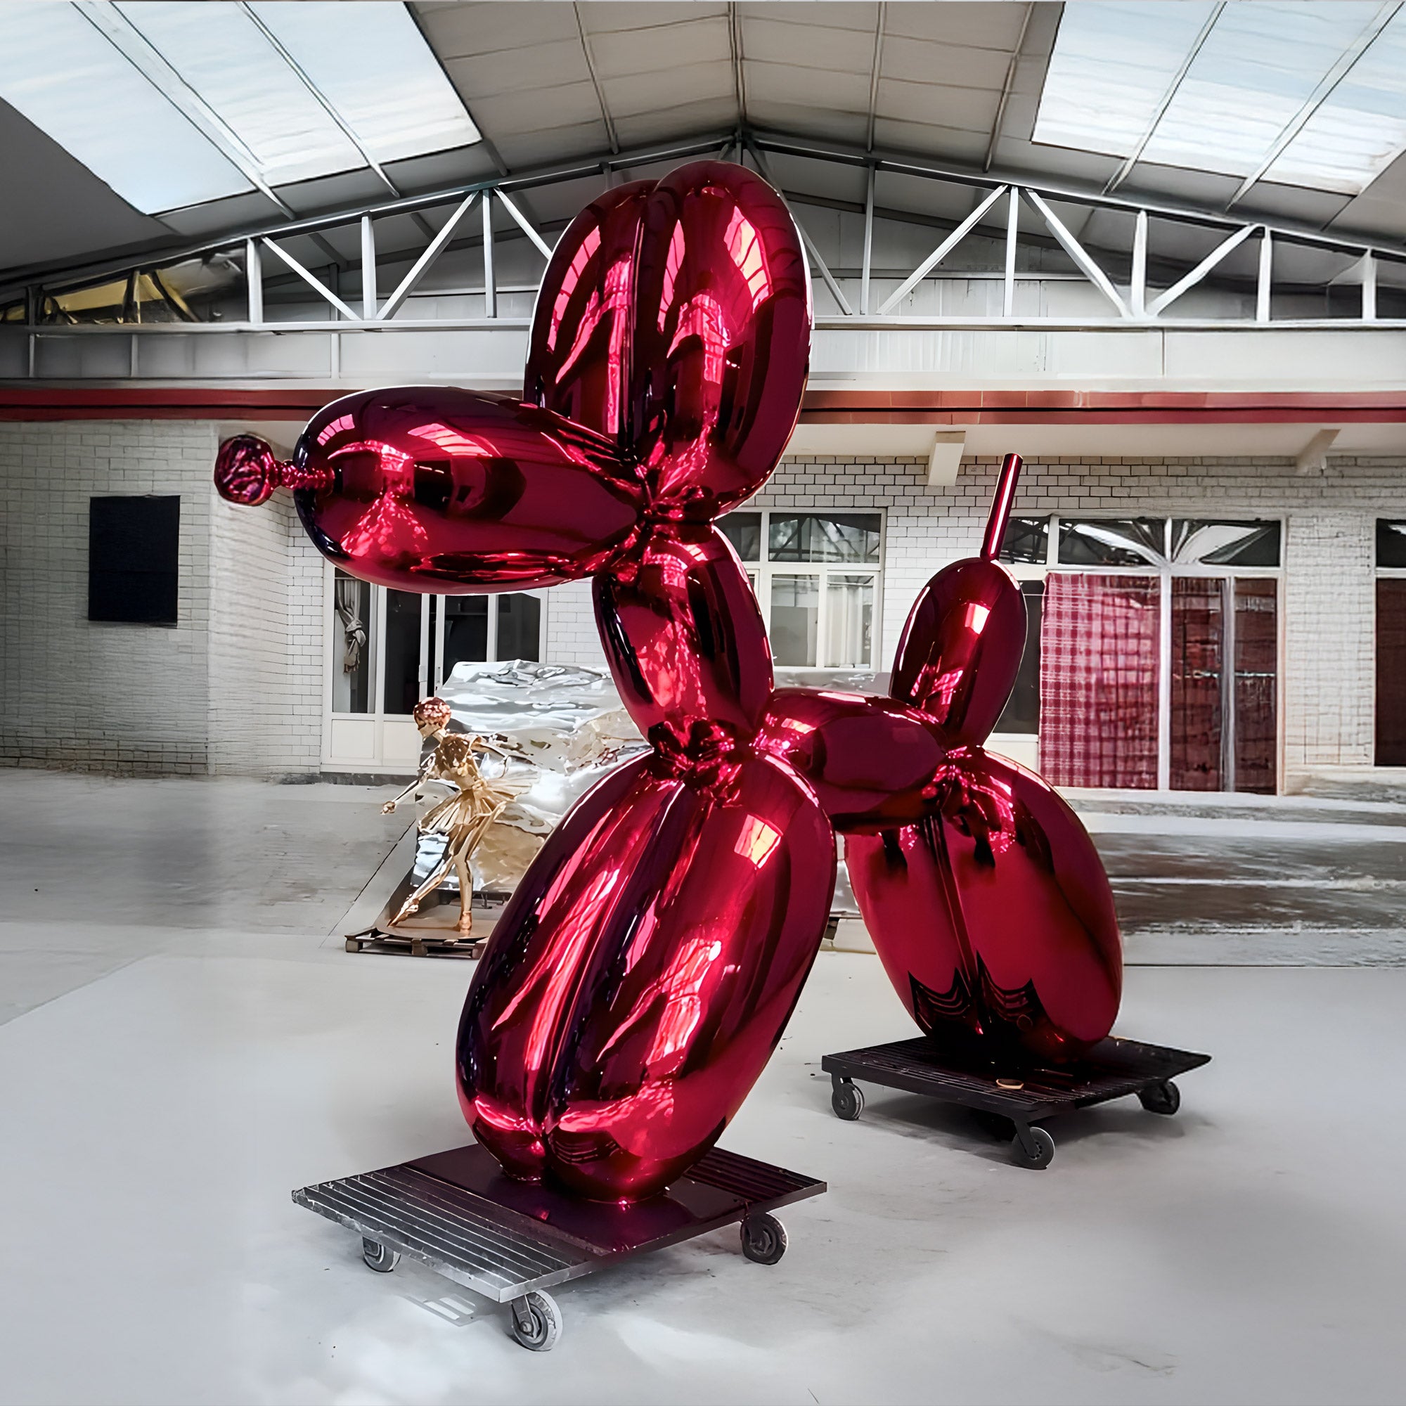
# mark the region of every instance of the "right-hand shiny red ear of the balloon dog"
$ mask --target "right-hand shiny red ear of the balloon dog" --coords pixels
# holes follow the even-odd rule
[[[634,297],[634,451],[658,506],[709,520],[762,486],[800,413],[810,277],[790,211],[742,166],[681,166],[645,205]]]

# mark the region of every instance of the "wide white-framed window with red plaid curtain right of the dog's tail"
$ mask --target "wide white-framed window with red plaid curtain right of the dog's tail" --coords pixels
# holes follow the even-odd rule
[[[1026,638],[995,731],[1038,734],[1056,785],[1272,792],[1282,537],[1275,519],[1012,519]],[[1378,538],[1406,567],[1406,531]]]

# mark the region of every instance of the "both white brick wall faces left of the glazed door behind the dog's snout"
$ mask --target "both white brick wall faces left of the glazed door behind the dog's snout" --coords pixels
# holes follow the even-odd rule
[[[215,496],[215,447],[205,422],[0,423],[0,762],[318,769],[319,558],[291,502]],[[89,499],[122,494],[180,495],[174,627],[87,619]]]

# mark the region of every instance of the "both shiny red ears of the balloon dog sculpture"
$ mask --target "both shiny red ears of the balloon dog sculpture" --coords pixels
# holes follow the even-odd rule
[[[567,228],[523,399],[633,449],[657,505],[707,522],[776,467],[808,360],[790,211],[749,170],[695,162],[607,191]]]

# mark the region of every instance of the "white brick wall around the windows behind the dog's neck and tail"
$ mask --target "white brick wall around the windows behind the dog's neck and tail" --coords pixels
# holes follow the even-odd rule
[[[953,486],[928,488],[927,460],[790,457],[747,506],[886,510],[886,668],[924,582],[979,550],[998,468],[995,458],[969,458]],[[1028,460],[1015,512],[1284,516],[1285,770],[1371,765],[1374,524],[1406,517],[1406,461],[1334,458],[1322,474],[1299,475],[1282,458]],[[564,613],[551,647],[562,658],[598,650],[589,610]]]

